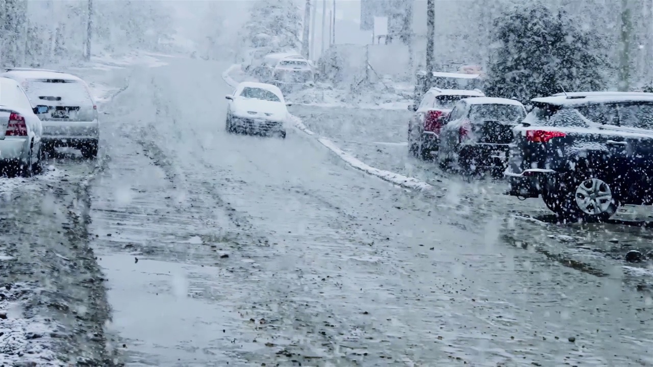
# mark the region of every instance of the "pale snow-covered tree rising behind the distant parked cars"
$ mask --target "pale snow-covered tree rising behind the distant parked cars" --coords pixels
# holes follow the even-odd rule
[[[272,37],[273,44],[269,46],[296,49],[301,24],[302,16],[295,0],[256,0],[251,4],[244,41],[251,44],[252,39],[265,34]]]

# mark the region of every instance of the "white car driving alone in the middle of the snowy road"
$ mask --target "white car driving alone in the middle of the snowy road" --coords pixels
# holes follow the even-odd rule
[[[279,135],[285,138],[287,106],[281,90],[272,84],[242,82],[228,100],[228,133]]]

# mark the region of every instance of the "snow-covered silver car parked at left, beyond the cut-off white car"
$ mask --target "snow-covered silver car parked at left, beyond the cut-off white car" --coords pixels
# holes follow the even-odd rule
[[[84,80],[64,72],[46,69],[13,68],[0,74],[16,80],[27,93],[43,124],[44,150],[67,146],[80,150],[86,158],[97,156],[99,122],[97,105]]]

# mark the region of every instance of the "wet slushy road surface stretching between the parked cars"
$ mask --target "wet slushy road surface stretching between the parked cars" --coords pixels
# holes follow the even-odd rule
[[[35,178],[0,212],[0,249],[20,256],[0,274],[50,287],[31,299],[52,302],[33,312],[63,325],[69,358],[86,348],[106,366],[653,365],[646,265],[622,260],[648,248],[648,228],[633,224],[646,212],[550,223],[537,200],[501,195],[500,180],[408,157],[408,112],[293,108],[368,165],[441,188],[426,199],[295,129],[285,140],[227,134],[229,65],[167,61],[89,75],[125,87],[104,106],[101,157],[61,157],[51,165],[66,180]],[[64,217],[47,219],[56,210]]]

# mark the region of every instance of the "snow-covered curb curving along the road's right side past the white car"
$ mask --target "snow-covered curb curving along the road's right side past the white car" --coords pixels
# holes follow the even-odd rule
[[[222,73],[223,80],[225,80],[225,83],[229,84],[229,86],[231,86],[232,88],[236,88],[236,86],[238,85],[238,82],[236,82],[236,80],[234,80],[230,75],[231,72],[235,71],[236,69],[240,69],[240,65],[238,64],[231,65],[231,67],[229,67],[227,70],[225,70]],[[381,180],[394,183],[395,185],[404,187],[406,189],[430,191],[433,188],[432,185],[423,182],[421,180],[417,180],[417,178],[407,177],[402,174],[390,172],[387,170],[380,170],[379,168],[374,168],[369,165],[366,165],[356,157],[353,157],[353,155],[344,152],[342,149],[338,148],[338,146],[336,146],[336,144],[334,144],[334,142],[332,142],[328,138],[323,138],[315,135],[313,131],[311,131],[310,129],[308,129],[308,127],[306,127],[306,125],[304,125],[302,119],[298,118],[297,116],[291,114],[290,121],[291,123],[293,123],[296,129],[306,133],[306,135],[317,137],[317,141],[320,142],[320,144],[327,147],[331,152],[338,155],[340,159],[345,161],[348,165],[350,165],[353,168],[362,170],[367,174],[376,176],[378,178],[381,178]]]

